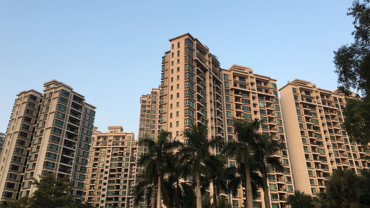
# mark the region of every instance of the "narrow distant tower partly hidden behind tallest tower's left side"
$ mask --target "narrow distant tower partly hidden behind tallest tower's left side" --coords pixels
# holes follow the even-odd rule
[[[156,138],[158,134],[159,88],[140,97],[139,137]]]

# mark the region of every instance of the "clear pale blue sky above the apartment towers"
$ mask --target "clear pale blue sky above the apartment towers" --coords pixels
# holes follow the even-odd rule
[[[336,88],[333,51],[353,38],[351,0],[0,1],[0,131],[16,94],[56,79],[97,107],[95,125],[137,135],[139,97],[160,83],[168,39],[191,33],[221,67]]]

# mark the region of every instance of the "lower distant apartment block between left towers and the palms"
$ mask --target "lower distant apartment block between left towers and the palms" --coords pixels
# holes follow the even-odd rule
[[[130,207],[137,145],[122,126],[92,134],[83,201],[94,207]]]

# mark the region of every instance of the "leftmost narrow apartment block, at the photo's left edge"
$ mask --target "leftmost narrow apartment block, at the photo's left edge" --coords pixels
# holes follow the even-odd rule
[[[20,184],[33,140],[42,94],[35,90],[17,94],[14,102],[0,160],[1,203],[19,196]]]

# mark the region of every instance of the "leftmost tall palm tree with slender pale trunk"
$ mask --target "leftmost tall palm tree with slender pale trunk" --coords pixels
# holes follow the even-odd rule
[[[158,175],[157,208],[161,208],[162,191],[161,182],[163,175],[168,172],[168,164],[174,160],[174,150],[182,147],[182,142],[171,139],[170,131],[160,131],[157,140],[151,138],[139,138],[138,145],[148,147],[137,161],[138,167],[145,167],[151,171],[156,171]],[[171,165],[169,165],[171,166]]]

